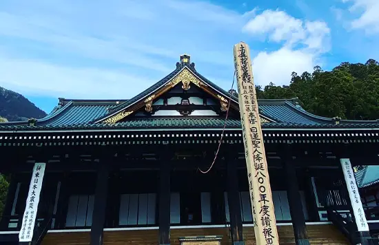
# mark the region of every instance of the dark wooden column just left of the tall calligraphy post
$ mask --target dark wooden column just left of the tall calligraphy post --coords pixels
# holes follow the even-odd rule
[[[240,193],[238,191],[238,171],[236,159],[227,158],[227,202],[229,204],[230,229],[233,244],[243,243],[243,227],[240,212]]]

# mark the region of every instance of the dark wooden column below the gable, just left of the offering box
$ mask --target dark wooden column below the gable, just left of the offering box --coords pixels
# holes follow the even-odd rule
[[[165,148],[167,151],[167,148]],[[170,244],[170,158],[163,155],[159,171],[159,244]]]

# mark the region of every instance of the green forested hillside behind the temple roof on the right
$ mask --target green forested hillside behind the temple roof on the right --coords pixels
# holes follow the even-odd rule
[[[274,71],[273,71],[274,72]],[[273,83],[257,86],[258,98],[298,97],[307,111],[318,116],[354,120],[379,119],[379,63],[341,63],[330,72],[314,67],[314,72],[292,73],[287,86]]]

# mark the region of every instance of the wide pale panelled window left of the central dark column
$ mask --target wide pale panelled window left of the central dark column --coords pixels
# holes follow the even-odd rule
[[[122,194],[119,225],[156,224],[156,193]]]

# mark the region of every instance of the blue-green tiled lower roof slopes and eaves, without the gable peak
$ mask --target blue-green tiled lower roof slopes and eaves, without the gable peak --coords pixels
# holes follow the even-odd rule
[[[114,124],[93,123],[96,118],[109,113],[120,103],[116,100],[64,100],[61,107],[45,118],[37,120],[36,126],[28,122],[4,122],[0,130],[30,129],[181,129],[181,128],[222,128],[223,118],[130,118]],[[338,127],[378,127],[376,121],[345,121],[336,125],[332,118],[322,118],[309,114],[296,105],[296,100],[258,100],[260,114],[274,120],[265,122],[263,128],[338,128]],[[239,118],[229,118],[227,128],[240,129]]]

